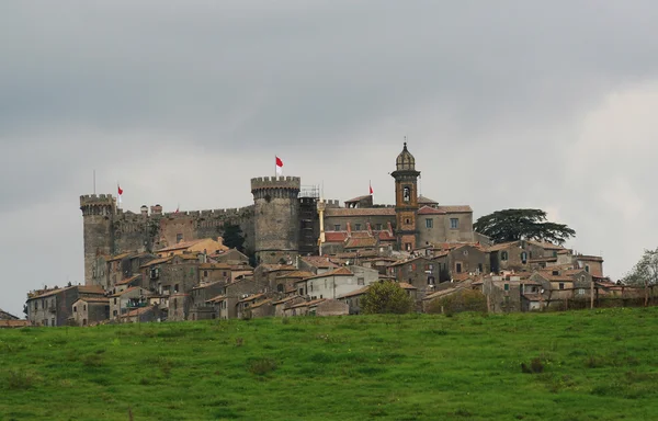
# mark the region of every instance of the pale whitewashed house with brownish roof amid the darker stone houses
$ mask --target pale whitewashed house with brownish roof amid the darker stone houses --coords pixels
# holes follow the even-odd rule
[[[340,295],[377,282],[379,274],[374,269],[363,266],[339,268],[320,275],[296,282],[302,296],[317,298],[338,298]]]

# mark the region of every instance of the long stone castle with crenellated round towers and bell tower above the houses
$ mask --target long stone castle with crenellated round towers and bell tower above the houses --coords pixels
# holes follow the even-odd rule
[[[411,251],[444,242],[477,242],[469,206],[443,206],[418,194],[416,159],[405,143],[390,173],[396,203],[375,205],[372,195],[324,201],[297,177],[251,179],[253,204],[241,208],[162,213],[144,205],[124,210],[111,194],[80,196],[84,237],[84,281],[100,277],[97,260],[122,252],[157,251],[181,241],[216,238],[226,223],[239,225],[245,248],[257,263],[287,262],[314,255],[365,249]]]

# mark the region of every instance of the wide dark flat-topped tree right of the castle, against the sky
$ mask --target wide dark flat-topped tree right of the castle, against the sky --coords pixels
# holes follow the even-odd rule
[[[497,210],[478,218],[473,229],[494,242],[546,240],[563,244],[576,236],[576,231],[564,224],[546,221],[546,213],[542,209]]]

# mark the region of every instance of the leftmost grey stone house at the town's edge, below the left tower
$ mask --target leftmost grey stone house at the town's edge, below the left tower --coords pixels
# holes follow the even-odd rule
[[[27,320],[35,326],[66,326],[72,318],[78,298],[102,298],[105,291],[99,285],[72,285],[65,288],[35,291],[27,294]]]

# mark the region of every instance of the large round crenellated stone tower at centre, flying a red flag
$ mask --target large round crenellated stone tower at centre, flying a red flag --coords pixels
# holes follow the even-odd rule
[[[258,263],[294,261],[299,251],[298,177],[251,179],[254,251]]]

